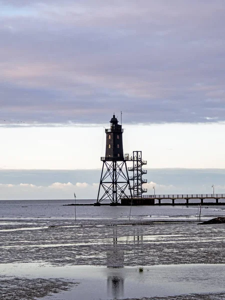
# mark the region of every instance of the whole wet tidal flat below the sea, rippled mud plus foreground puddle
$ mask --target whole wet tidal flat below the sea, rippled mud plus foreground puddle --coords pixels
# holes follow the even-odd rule
[[[224,233],[196,221],[1,220],[0,299],[21,299],[12,285],[27,287],[24,300],[222,299]],[[123,268],[106,267],[108,249],[124,251]]]

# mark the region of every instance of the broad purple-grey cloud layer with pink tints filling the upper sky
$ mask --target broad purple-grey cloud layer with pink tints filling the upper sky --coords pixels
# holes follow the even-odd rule
[[[6,125],[225,120],[223,0],[1,5]]]

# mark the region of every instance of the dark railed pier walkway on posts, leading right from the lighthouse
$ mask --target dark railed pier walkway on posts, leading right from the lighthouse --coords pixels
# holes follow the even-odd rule
[[[225,193],[224,194],[153,194],[153,195],[142,195],[142,197],[133,197],[133,204],[134,205],[154,205],[154,204],[161,204],[161,200],[164,199],[171,199],[172,205],[175,205],[175,200],[177,199],[185,199],[185,203],[183,204],[192,204],[189,203],[190,199],[199,199],[200,203],[203,204],[204,200],[210,200],[214,199],[214,203],[219,203],[219,199],[225,199]],[[158,203],[155,203],[155,200],[158,201]],[[131,202],[131,197],[128,199],[121,198],[121,204],[128,205]],[[196,202],[195,202],[196,203]],[[179,202],[180,204],[180,202]],[[207,201],[208,204],[208,201]],[[225,203],[224,203],[225,204]]]

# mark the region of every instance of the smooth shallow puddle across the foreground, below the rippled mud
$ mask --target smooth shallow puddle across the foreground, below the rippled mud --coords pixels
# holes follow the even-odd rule
[[[210,292],[224,295],[225,290],[224,264],[144,266],[143,272],[140,273],[138,267],[107,268],[86,265],[52,267],[40,263],[3,263],[0,264],[0,274],[27,280],[60,277],[62,281],[80,282],[76,286],[71,286],[71,290],[59,291],[44,296],[40,298],[41,300],[139,299]],[[23,288],[22,284],[20,288]]]

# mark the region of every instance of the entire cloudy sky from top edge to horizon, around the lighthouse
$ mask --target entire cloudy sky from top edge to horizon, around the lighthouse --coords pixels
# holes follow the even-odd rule
[[[0,0],[0,170],[24,175],[0,176],[0,198],[34,198],[30,184],[45,188],[40,198],[59,195],[51,184],[62,198],[69,188],[94,198],[99,176],[87,183],[61,170],[99,172],[104,127],[120,111],[124,152],[142,150],[161,172],[149,190],[162,188],[165,168],[204,169],[204,178],[225,168],[224,27],[224,0]],[[28,180],[44,169],[60,180]]]

